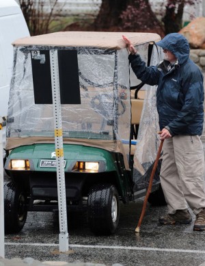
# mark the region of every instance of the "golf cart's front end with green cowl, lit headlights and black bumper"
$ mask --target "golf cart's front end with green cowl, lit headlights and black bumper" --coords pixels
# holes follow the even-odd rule
[[[53,144],[25,145],[13,149],[5,162],[5,171],[30,198],[30,210],[33,210],[33,202],[36,200],[49,202],[49,205],[57,201],[54,155]],[[130,193],[131,189],[128,189],[126,176],[128,173],[124,169],[123,159],[119,160],[120,156],[122,155],[96,147],[64,145],[64,175],[68,206],[70,208],[83,206],[90,188],[100,183],[115,184],[122,201],[125,201],[126,194]],[[21,162],[21,167],[18,162]],[[124,171],[119,171],[120,169]],[[42,205],[41,202],[40,206]],[[42,208],[45,209],[49,207]]]

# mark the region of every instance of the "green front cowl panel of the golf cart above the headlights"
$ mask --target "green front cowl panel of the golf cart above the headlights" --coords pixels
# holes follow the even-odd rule
[[[55,171],[55,168],[40,167],[40,160],[55,160],[55,144],[33,144],[17,147],[10,153],[9,158],[28,159],[33,162],[31,169],[35,171]],[[105,162],[105,171],[118,171],[113,162],[113,156],[105,149],[87,147],[83,145],[64,145],[64,160],[66,169],[73,167],[74,163],[81,160],[87,162]]]

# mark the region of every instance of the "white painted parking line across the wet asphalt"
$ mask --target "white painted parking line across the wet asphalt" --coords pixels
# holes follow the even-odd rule
[[[23,246],[36,246],[36,247],[58,247],[58,244],[52,243],[5,243],[5,245],[23,245]],[[109,250],[138,250],[138,251],[154,251],[154,252],[176,252],[176,253],[198,253],[205,254],[205,250],[178,250],[174,248],[154,248],[154,247],[126,247],[119,245],[69,245],[69,247],[79,248],[99,248]]]

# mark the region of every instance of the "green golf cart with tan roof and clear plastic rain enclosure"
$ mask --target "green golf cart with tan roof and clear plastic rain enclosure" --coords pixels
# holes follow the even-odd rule
[[[120,202],[146,194],[159,144],[156,86],[142,87],[135,77],[122,34],[148,64],[161,60],[157,34],[57,32],[14,42],[5,232],[19,232],[28,211],[58,210],[51,49],[57,51],[64,88],[60,119],[68,212],[85,211],[92,232],[111,234]],[[163,200],[159,171],[152,191],[151,203]]]

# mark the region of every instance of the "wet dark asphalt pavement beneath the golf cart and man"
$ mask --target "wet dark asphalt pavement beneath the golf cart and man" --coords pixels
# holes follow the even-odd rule
[[[161,226],[158,218],[166,213],[166,206],[148,204],[140,232],[135,233],[142,205],[143,198],[122,204],[117,232],[104,237],[90,232],[85,213],[68,214],[70,254],[58,252],[56,213],[28,213],[20,233],[5,235],[5,258],[31,257],[38,261],[124,266],[199,266],[205,263],[205,232],[193,232],[194,215],[189,225]]]

